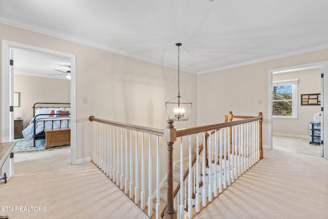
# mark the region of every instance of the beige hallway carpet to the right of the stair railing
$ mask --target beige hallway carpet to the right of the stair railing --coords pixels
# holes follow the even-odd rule
[[[328,218],[328,160],[265,150],[195,218]]]

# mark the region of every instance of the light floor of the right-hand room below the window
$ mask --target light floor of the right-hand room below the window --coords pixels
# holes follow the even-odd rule
[[[310,137],[289,137],[282,135],[272,135],[273,149],[320,156],[320,145],[311,145]]]

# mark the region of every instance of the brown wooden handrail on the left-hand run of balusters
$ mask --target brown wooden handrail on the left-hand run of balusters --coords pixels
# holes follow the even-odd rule
[[[158,136],[164,136],[163,129],[155,129],[155,128],[149,128],[149,127],[145,127],[145,126],[131,125],[131,124],[127,124],[127,123],[118,123],[118,122],[113,122],[110,120],[104,120],[102,118],[96,118],[93,115],[89,116],[89,121],[91,121],[91,122],[95,121],[98,123],[104,123],[104,124],[108,124],[108,125],[118,126],[121,128],[131,129],[134,131],[147,132],[147,133],[158,135]]]

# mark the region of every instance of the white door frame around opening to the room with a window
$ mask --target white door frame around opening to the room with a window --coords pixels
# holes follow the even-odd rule
[[[321,140],[325,140],[326,143],[323,144],[323,157],[328,159],[328,131],[324,132],[323,130],[328,130],[328,61],[317,62],[317,63],[308,63],[297,66],[289,66],[278,69],[269,70],[269,115],[268,115],[268,143],[269,148],[272,149],[272,74],[273,73],[286,73],[294,72],[308,69],[320,69],[323,73],[323,88],[322,99],[323,99],[323,112],[321,112],[321,121],[323,126],[321,126]]]

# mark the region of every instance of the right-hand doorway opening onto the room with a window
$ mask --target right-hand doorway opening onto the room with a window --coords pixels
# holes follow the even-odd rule
[[[270,148],[327,157],[326,72],[328,61],[269,70]]]

